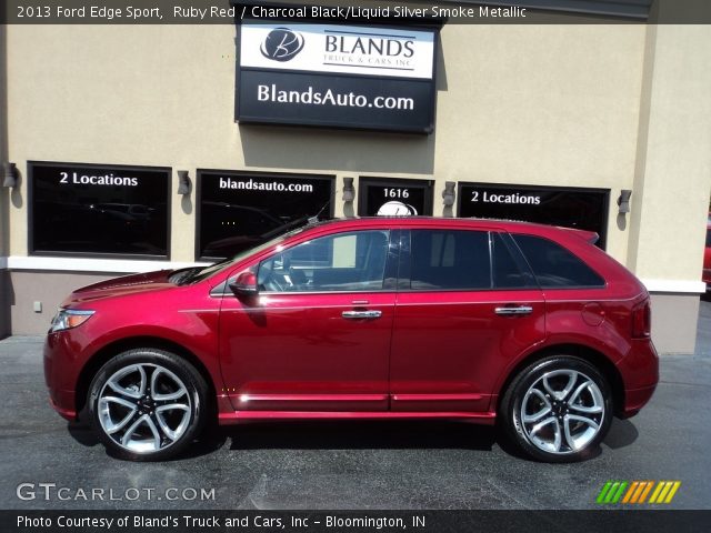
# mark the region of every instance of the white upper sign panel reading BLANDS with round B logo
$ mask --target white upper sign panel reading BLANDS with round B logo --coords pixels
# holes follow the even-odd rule
[[[432,80],[431,31],[243,21],[242,68]]]

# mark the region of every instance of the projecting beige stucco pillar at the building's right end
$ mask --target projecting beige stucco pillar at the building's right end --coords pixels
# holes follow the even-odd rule
[[[698,281],[711,189],[711,27],[651,27],[648,49],[629,263],[643,279]]]

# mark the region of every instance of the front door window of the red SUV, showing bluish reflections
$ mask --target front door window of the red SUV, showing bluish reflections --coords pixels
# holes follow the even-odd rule
[[[361,292],[383,288],[388,231],[322,237],[272,255],[259,265],[267,292]]]

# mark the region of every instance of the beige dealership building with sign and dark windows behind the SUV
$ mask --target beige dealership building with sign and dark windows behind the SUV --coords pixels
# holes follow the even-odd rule
[[[711,26],[649,23],[673,0],[512,3],[0,26],[0,336],[310,217],[418,214],[595,231],[652,294],[659,351],[692,353]]]

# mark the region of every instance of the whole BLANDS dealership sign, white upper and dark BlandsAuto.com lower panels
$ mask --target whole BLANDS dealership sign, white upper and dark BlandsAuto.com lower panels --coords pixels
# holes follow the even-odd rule
[[[431,133],[435,31],[246,19],[236,118]]]

